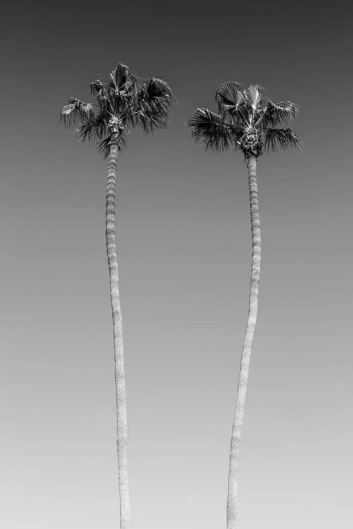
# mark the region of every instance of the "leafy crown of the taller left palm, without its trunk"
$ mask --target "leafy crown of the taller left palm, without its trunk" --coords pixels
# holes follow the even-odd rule
[[[151,77],[139,83],[128,66],[121,63],[110,73],[108,83],[102,83],[98,74],[98,79],[90,84],[90,93],[96,96],[97,104],[70,97],[60,119],[66,126],[79,124],[80,140],[96,140],[104,157],[113,140],[119,149],[125,145],[130,127],[140,126],[145,133],[165,128],[174,100],[164,80]]]

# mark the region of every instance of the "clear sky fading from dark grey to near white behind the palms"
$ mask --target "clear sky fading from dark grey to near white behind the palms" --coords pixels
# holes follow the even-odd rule
[[[352,12],[343,2],[1,8],[0,524],[119,527],[106,163],[59,123],[116,63],[169,82],[169,128],[119,157],[119,274],[135,529],[225,527],[248,312],[239,153],[187,121],[227,80],[299,105],[301,152],[258,159],[262,268],[239,529],[352,523]]]

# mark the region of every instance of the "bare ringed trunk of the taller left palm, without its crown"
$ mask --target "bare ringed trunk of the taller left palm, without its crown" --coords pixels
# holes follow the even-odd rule
[[[110,276],[110,298],[112,300],[114,326],[114,359],[117,415],[117,450],[119,466],[120,494],[120,529],[131,529],[131,508],[128,494],[127,468],[127,421],[126,421],[126,389],[124,372],[124,345],[121,307],[119,298],[118,260],[115,242],[115,192],[116,163],[118,145],[112,142],[108,158],[107,197],[105,208],[105,225],[107,240],[107,256]]]

